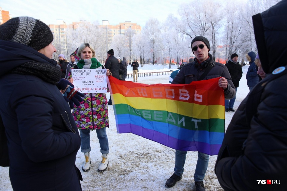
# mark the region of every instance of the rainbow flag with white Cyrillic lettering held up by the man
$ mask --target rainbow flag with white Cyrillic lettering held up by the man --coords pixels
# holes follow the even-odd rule
[[[217,155],[225,130],[224,90],[218,80],[148,85],[109,76],[117,132]]]

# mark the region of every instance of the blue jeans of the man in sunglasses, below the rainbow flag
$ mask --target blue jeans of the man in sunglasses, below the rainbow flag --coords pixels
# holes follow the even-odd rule
[[[184,163],[186,158],[187,151],[182,150],[175,150],[175,167],[174,167],[174,173],[178,176],[182,176],[184,171]],[[194,181],[203,181],[205,172],[207,170],[209,161],[209,155],[205,153],[198,152],[198,158],[194,173]]]

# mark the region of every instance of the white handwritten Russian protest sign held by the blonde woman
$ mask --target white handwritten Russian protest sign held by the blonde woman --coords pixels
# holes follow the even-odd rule
[[[106,69],[72,70],[75,89],[81,93],[106,93],[106,72]]]

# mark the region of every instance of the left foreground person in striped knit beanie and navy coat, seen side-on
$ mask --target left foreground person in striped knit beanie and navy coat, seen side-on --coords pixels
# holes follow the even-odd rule
[[[50,28],[32,17],[0,25],[0,115],[14,191],[81,190],[75,165],[81,139],[59,87],[74,89],[51,60],[53,39]]]

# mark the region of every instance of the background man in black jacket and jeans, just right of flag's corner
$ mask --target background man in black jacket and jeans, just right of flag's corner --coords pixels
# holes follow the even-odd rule
[[[239,87],[239,81],[242,77],[242,67],[239,64],[238,60],[238,54],[233,53],[231,55],[231,59],[228,60],[228,62],[225,64],[225,66],[227,67],[230,76],[231,76],[231,80],[233,82],[233,85],[235,87],[235,96],[232,99],[226,99],[225,100],[225,111],[229,112],[229,111],[235,111],[233,110],[233,105],[236,99],[236,92],[237,92],[237,88]]]

